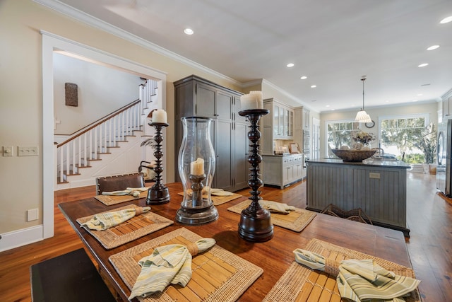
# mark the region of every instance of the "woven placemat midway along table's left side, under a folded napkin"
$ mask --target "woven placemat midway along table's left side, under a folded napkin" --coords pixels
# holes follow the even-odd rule
[[[119,207],[117,209],[111,209],[109,211],[120,211],[122,209],[137,208],[135,204],[129,204],[128,206]],[[107,211],[106,211],[107,212]],[[105,212],[103,212],[105,213]],[[94,215],[86,216],[77,219],[77,222],[82,224],[93,218]],[[83,226],[86,231],[93,235],[107,250],[116,248],[117,246],[128,243],[132,240],[148,235],[155,231],[170,226],[174,221],[166,219],[160,215],[148,211],[138,216],[134,216],[128,221],[107,228],[105,231],[90,230],[90,228]]]

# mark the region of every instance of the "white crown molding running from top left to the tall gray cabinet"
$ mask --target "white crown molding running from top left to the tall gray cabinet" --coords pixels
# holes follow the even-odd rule
[[[58,1],[58,0],[32,0],[32,1],[35,1],[37,4],[46,6],[47,8],[50,8],[54,11],[57,11],[58,13],[61,13],[64,16],[73,18],[76,21],[80,21],[82,23],[88,24],[88,25],[92,26],[93,28],[97,28],[99,30],[105,31],[112,35],[116,35],[117,37],[121,37],[121,39],[132,42],[133,44],[139,45],[145,49],[156,52],[157,54],[161,54],[165,57],[169,57],[170,59],[174,59],[174,61],[191,66],[195,69],[199,69],[200,71],[206,72],[208,74],[216,76],[225,81],[229,81],[230,83],[232,83],[236,86],[242,87],[242,85],[243,85],[243,83],[241,83],[237,80],[234,80],[234,79],[230,78],[229,76],[220,74],[218,71],[215,71],[206,66],[198,64],[198,63],[192,61],[191,59],[187,59],[186,57],[182,57],[181,55],[179,55],[175,52],[167,50],[164,47],[160,47],[159,45],[156,45],[153,42],[144,40],[141,37],[133,35],[133,34],[127,32],[126,30],[122,30],[121,28],[118,28],[117,26],[114,26],[105,21],[102,21],[99,18],[90,16],[90,15],[88,15],[88,13],[84,13],[83,11],[73,8],[67,4],[64,4],[61,1]]]

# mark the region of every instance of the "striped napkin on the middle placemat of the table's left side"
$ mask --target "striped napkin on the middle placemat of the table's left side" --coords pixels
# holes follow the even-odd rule
[[[150,207],[130,208],[120,211],[95,214],[92,219],[82,223],[81,226],[87,226],[91,230],[105,231],[107,228],[117,226],[119,223],[129,220],[133,216],[138,216],[147,211],[150,211]]]

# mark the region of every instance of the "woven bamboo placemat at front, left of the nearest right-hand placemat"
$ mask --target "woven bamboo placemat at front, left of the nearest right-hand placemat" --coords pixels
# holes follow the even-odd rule
[[[138,260],[152,254],[160,245],[194,243],[201,239],[186,228],[179,228],[163,236],[136,245],[109,257],[118,274],[132,289],[141,267]],[[193,257],[193,274],[185,286],[170,285],[165,291],[140,301],[236,301],[261,276],[263,269],[232,252],[214,245],[210,250]]]

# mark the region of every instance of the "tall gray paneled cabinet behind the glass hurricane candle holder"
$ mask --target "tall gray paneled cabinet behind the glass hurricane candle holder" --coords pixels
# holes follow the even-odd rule
[[[245,117],[238,114],[240,95],[242,93],[194,75],[174,82],[176,154],[184,136],[181,117],[210,117],[216,156],[212,186],[227,191],[248,187],[248,129]],[[174,160],[176,180],[180,181],[178,158]]]

